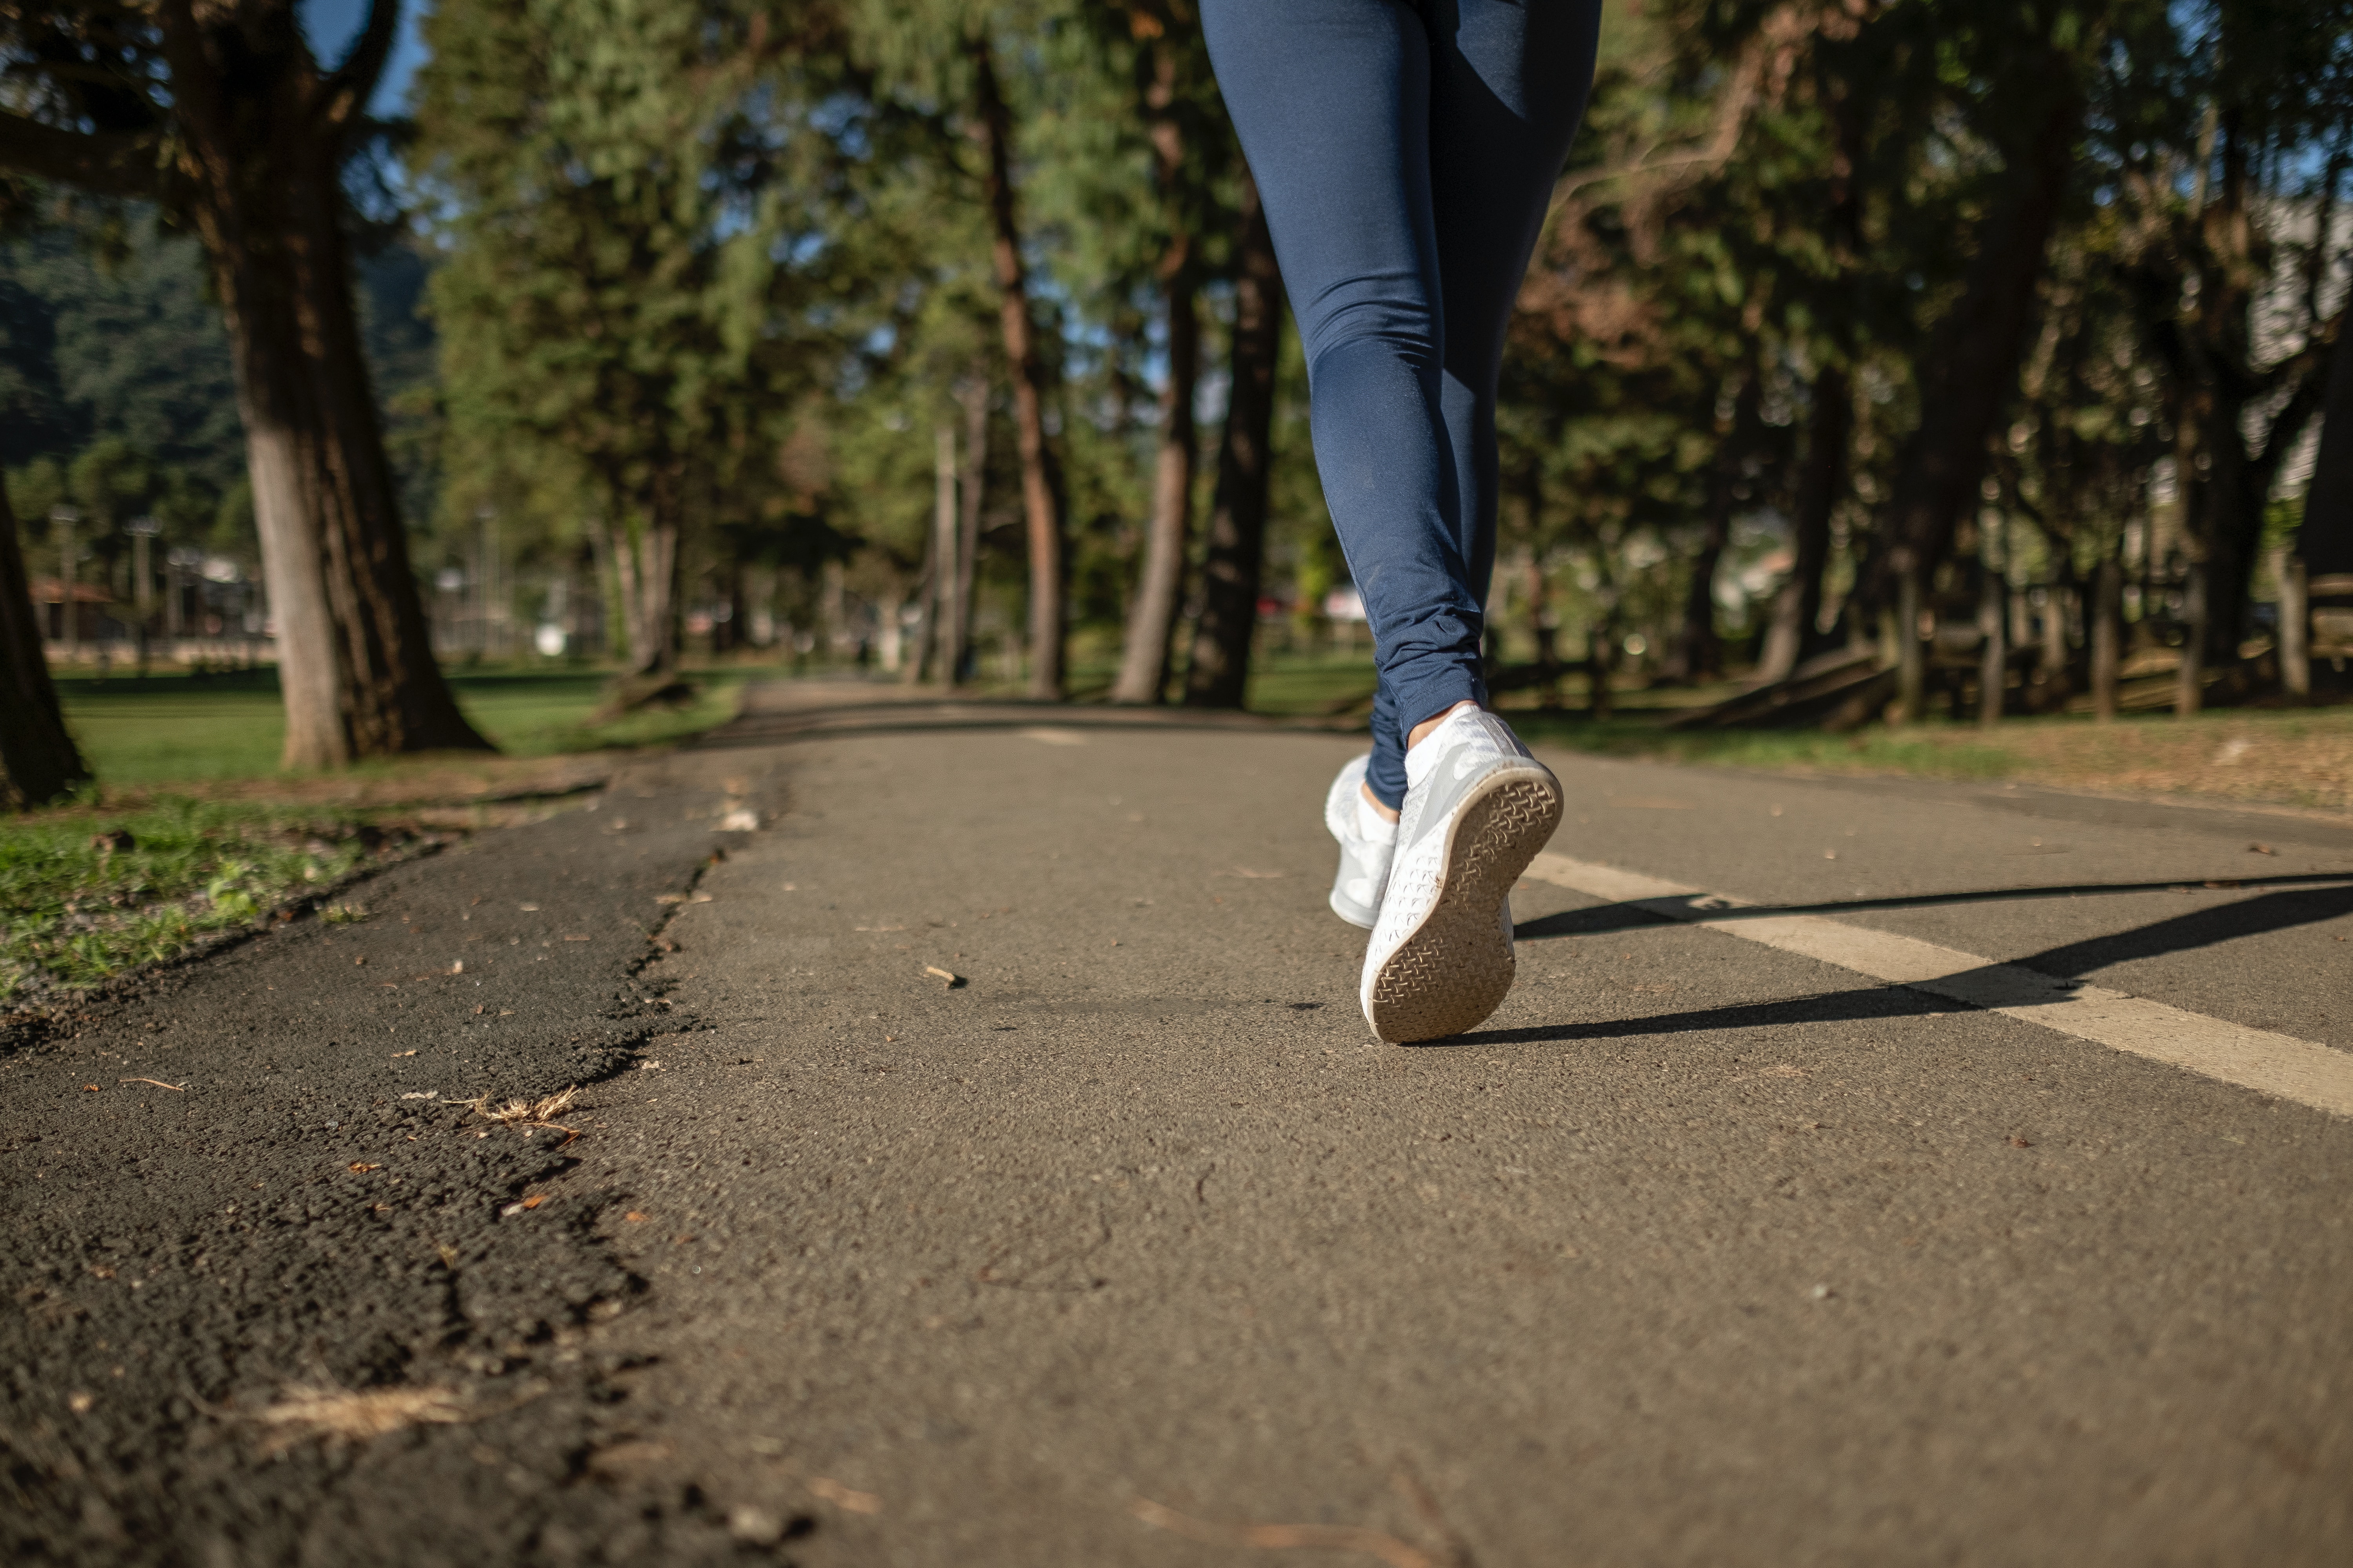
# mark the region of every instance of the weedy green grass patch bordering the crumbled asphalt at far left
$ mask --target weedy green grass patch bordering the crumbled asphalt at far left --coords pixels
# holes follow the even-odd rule
[[[0,832],[0,1004],[174,959],[367,860],[355,818],[315,809],[162,802],[12,823]]]

